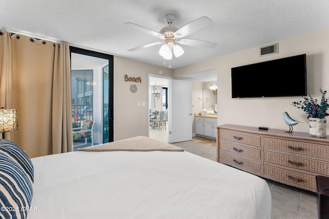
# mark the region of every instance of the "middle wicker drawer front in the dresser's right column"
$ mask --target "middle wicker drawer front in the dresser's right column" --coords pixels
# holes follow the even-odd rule
[[[264,151],[264,162],[329,175],[329,164],[301,157]]]

